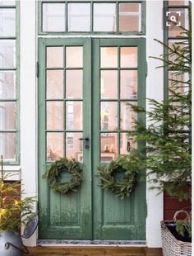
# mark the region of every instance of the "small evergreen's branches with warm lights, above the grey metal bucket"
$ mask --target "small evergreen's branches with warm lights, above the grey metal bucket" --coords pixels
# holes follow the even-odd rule
[[[0,232],[3,230],[17,231],[21,225],[35,215],[32,213],[35,197],[25,197],[17,200],[16,196],[21,197],[21,183],[8,182],[7,178],[11,178],[11,174],[3,171],[3,162],[1,157],[0,172]],[[14,198],[15,197],[15,198]]]

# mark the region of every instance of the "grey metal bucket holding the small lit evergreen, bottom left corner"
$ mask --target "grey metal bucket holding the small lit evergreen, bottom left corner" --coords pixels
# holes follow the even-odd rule
[[[16,247],[15,247],[16,246]],[[21,256],[23,243],[21,235],[11,230],[0,231],[0,255]]]

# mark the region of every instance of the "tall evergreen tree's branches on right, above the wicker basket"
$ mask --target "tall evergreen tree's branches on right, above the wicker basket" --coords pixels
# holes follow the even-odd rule
[[[191,191],[185,188],[192,183],[191,28],[184,29],[181,43],[178,41],[164,47],[168,54],[154,59],[161,60],[162,67],[168,67],[173,72],[173,78],[169,78],[169,97],[163,102],[148,99],[148,111],[132,106],[137,113],[146,112],[148,125],[135,121],[136,131],[130,132],[130,135],[136,135],[137,142],[146,143],[145,147],[136,150],[136,154],[141,159],[141,168],[143,165],[147,169],[153,187],[160,191],[165,189],[182,200],[191,198]]]

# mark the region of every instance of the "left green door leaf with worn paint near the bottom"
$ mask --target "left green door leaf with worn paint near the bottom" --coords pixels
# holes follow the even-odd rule
[[[90,138],[90,66],[83,56],[90,56],[90,40],[39,40],[40,239],[92,239],[90,150],[79,140]],[[64,155],[81,162],[84,179],[67,195],[50,190],[42,178]]]

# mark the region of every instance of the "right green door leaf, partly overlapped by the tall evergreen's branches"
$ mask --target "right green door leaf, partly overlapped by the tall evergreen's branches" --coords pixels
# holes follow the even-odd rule
[[[134,138],[124,130],[133,130],[132,118],[136,114],[127,103],[145,107],[145,45],[143,39],[100,39],[93,41],[96,58],[93,73],[93,116],[95,126],[92,137],[93,170],[99,164],[108,164],[118,154],[129,154],[136,147]],[[104,73],[117,73],[117,97],[113,90],[102,88],[106,83]],[[104,87],[105,88],[105,87]],[[101,89],[101,92],[99,90]],[[100,104],[99,104],[100,102]],[[101,107],[100,107],[101,106]],[[144,121],[145,116],[138,116]],[[138,145],[141,146],[141,145]],[[116,174],[120,178],[122,173]],[[146,187],[140,181],[129,198],[121,200],[112,192],[104,191],[99,179],[94,178],[93,209],[95,239],[145,239]]]

